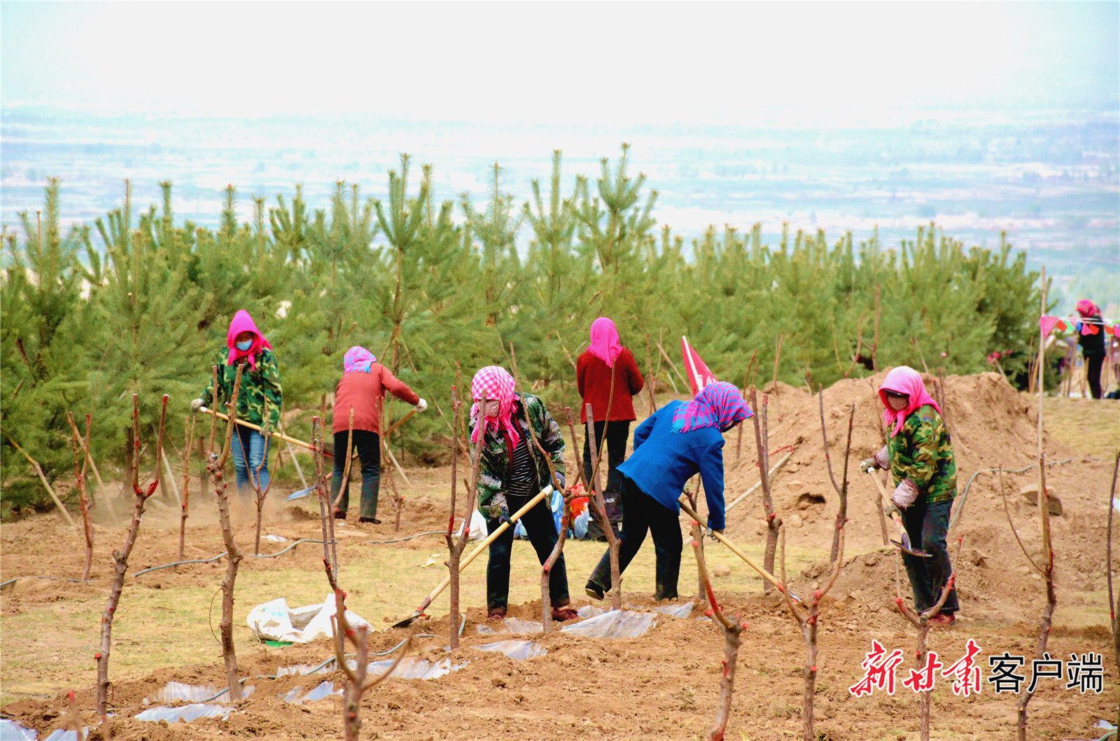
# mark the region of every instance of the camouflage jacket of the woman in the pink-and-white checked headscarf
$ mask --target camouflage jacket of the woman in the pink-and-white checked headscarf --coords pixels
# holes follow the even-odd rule
[[[530,446],[533,461],[536,463],[538,491],[544,489],[549,482],[549,466],[544,456],[533,445],[533,439],[529,435],[526,426],[533,425],[536,439],[549,453],[552,467],[560,475],[564,475],[563,466],[563,437],[560,435],[560,425],[552,419],[549,410],[544,408],[544,402],[531,393],[515,393],[513,397],[513,418],[517,424],[521,435]],[[475,420],[470,420],[470,433],[474,434]],[[505,437],[500,434],[488,433],[483,438],[483,456],[478,464],[478,511],[484,517],[494,519],[501,517],[503,509],[508,509],[505,492],[510,480],[510,451],[505,444]],[[472,455],[474,448],[472,447]]]

